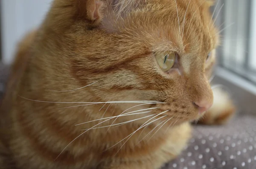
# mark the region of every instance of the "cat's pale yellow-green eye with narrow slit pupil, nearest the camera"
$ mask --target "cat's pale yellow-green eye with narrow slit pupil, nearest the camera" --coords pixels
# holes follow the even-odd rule
[[[159,67],[164,71],[169,71],[175,64],[176,53],[163,52],[155,54]]]

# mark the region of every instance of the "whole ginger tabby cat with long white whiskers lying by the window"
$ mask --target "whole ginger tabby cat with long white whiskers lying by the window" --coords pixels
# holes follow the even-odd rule
[[[159,169],[186,146],[190,122],[228,120],[228,98],[209,109],[211,5],[53,0],[17,52],[1,106],[0,168]]]

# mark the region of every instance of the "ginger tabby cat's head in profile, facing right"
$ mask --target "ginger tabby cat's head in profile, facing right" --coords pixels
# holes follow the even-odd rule
[[[71,74],[102,101],[154,100],[155,113],[195,120],[213,101],[218,31],[209,0],[55,0]],[[61,38],[61,35],[60,35]]]

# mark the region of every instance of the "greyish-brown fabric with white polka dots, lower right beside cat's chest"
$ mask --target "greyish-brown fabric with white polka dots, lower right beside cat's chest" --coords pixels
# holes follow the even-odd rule
[[[256,169],[255,132],[250,116],[227,126],[195,126],[186,150],[163,169]]]

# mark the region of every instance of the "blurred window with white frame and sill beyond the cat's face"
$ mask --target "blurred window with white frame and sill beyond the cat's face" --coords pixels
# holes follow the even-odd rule
[[[245,112],[256,109],[256,0],[217,0],[221,32],[215,82],[230,88]]]

